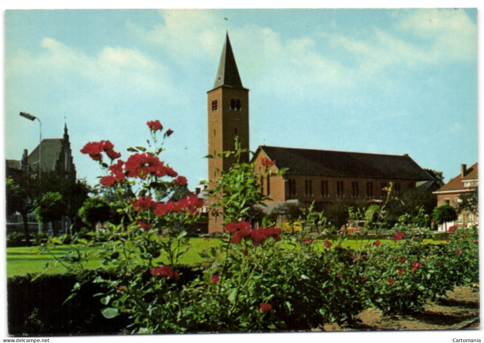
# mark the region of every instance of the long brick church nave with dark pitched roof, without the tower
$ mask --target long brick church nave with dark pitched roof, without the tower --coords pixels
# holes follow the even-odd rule
[[[342,198],[382,201],[384,188],[393,194],[433,181],[408,155],[382,155],[313,149],[259,146],[252,162],[256,169],[268,158],[273,172],[287,168],[284,176],[268,177],[264,192],[272,202],[330,203]]]

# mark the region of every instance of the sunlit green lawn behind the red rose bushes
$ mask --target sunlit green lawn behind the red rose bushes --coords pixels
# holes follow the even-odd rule
[[[322,244],[323,241],[319,241]],[[344,247],[350,247],[352,249],[357,249],[359,244],[371,244],[374,240],[347,240],[343,242]],[[391,240],[380,239],[382,244],[388,244]],[[432,241],[429,240],[428,243],[440,243],[444,241]],[[183,265],[195,265],[199,263],[202,258],[198,255],[198,252],[217,246],[220,243],[218,239],[206,239],[206,238],[192,238],[190,239],[190,245],[192,249],[189,249],[181,258],[180,263]],[[94,248],[83,248],[83,249],[94,249]],[[61,257],[65,255],[70,250],[69,246],[58,246],[53,252],[56,256]],[[13,277],[15,275],[25,275],[33,273],[41,273],[45,271],[45,265],[47,262],[51,261],[52,257],[47,252],[38,253],[38,249],[33,248],[7,248],[7,277]],[[163,259],[160,258],[160,261]],[[97,268],[101,265],[100,260],[91,260],[86,266],[88,268]],[[57,266],[54,269],[48,271],[50,274],[61,274],[65,272],[65,268],[62,266]]]

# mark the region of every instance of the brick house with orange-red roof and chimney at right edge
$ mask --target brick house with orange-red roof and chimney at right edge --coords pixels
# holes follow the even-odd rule
[[[437,205],[448,204],[452,207],[456,207],[457,203],[462,201],[462,196],[464,194],[471,194],[477,191],[479,184],[479,171],[478,163],[474,163],[472,166],[467,168],[467,165],[461,165],[461,172],[459,175],[454,177],[451,181],[446,183],[444,186],[440,187],[437,191],[433,192],[437,195]],[[455,222],[447,223],[447,227],[453,225],[478,225],[479,216],[478,210],[475,213],[469,211],[463,211],[458,214],[457,220]],[[445,231],[445,225],[439,225],[439,231]]]

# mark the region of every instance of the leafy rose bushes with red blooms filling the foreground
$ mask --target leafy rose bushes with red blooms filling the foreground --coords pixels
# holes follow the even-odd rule
[[[57,264],[77,276],[71,297],[87,281],[105,290],[97,294],[107,318],[129,317],[133,333],[250,332],[306,330],[328,322],[349,324],[363,309],[404,313],[423,308],[429,297],[445,295],[455,285],[478,282],[478,237],[475,228],[457,228],[448,242],[428,244],[429,218],[402,216],[388,242],[358,236],[356,249],[344,248],[348,236],[325,238],[326,220],[313,206],[303,212],[302,230],[287,234],[274,226],[262,208],[269,197],[263,181],[280,176],[274,161],[262,168],[241,162],[249,152],[236,140],[235,151],[219,156],[234,163],[208,188],[208,211],[220,218],[220,244],[200,253],[204,261],[188,277],[180,258],[190,249],[187,227],[207,206],[187,189],[187,179],[161,160],[166,139],[157,121],[147,123],[148,147],[129,148],[121,159],[108,140],[89,142],[81,150],[98,163],[101,187],[116,196],[121,223],[75,236],[71,251]],[[106,163],[106,160],[108,163]],[[390,192],[390,189],[389,189]],[[371,214],[385,222],[384,207]],[[364,212],[350,218],[368,219]],[[376,219],[375,219],[376,218]],[[370,219],[368,219],[370,220]],[[374,225],[374,223],[372,224]],[[103,243],[99,243],[103,242]],[[41,249],[62,243],[52,238]],[[92,249],[82,249],[88,246]],[[100,258],[102,267],[86,269]]]

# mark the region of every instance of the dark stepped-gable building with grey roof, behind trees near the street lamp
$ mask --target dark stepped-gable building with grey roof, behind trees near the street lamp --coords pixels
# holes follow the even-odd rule
[[[64,135],[62,138],[44,139],[30,154],[25,149],[20,160],[6,160],[7,175],[25,170],[37,172],[39,170],[39,158],[41,160],[42,171],[57,172],[65,178],[76,181],[76,166],[74,165],[72,157],[67,125],[64,125]],[[42,228],[41,223],[36,222],[35,217],[35,214],[28,216],[30,234],[36,231],[46,231],[50,235],[62,234],[66,233],[67,228],[70,226],[69,220],[65,218],[58,223],[48,223],[48,227],[45,230],[45,228]],[[13,231],[23,232],[20,215],[15,214],[7,218],[7,233]]]

